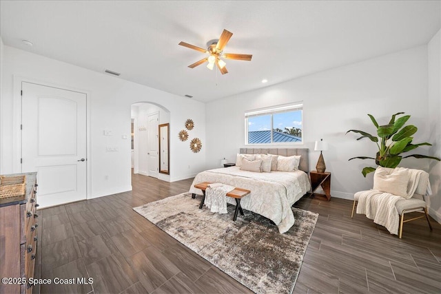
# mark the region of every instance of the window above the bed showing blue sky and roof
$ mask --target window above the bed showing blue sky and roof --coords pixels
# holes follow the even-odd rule
[[[303,103],[245,112],[245,144],[303,143]]]

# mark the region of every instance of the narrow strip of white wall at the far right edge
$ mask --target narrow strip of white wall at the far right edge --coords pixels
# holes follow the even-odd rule
[[[431,154],[441,158],[441,30],[429,42],[429,134]],[[429,165],[433,195],[429,197],[429,213],[441,223],[441,162]]]

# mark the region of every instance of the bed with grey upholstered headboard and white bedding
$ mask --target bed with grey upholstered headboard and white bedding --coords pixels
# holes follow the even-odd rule
[[[301,156],[296,171],[271,171],[258,173],[243,171],[240,167],[210,169],[197,174],[189,193],[202,195],[194,185],[199,182],[220,182],[226,185],[248,189],[249,196],[240,201],[243,209],[258,213],[272,220],[280,233],[285,233],[294,225],[291,206],[311,188],[309,177],[308,149],[240,149],[240,154],[274,154],[279,156]],[[229,204],[236,205],[233,198],[227,197]]]

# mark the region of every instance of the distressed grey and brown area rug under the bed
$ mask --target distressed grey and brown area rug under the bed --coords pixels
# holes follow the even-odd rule
[[[255,293],[291,293],[318,213],[292,208],[296,222],[280,234],[274,222],[251,211],[233,222],[228,213],[198,209],[201,198],[183,193],[134,211]]]

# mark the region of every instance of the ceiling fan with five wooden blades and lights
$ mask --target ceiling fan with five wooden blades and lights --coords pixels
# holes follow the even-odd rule
[[[235,54],[235,53],[223,53],[223,48],[225,48],[225,45],[227,45],[229,39],[232,37],[233,33],[229,32],[227,30],[223,30],[222,34],[220,35],[219,39],[214,39],[212,41],[209,41],[207,43],[208,48],[205,50],[203,48],[200,48],[198,46],[182,42],[179,43],[179,45],[203,52],[209,54],[209,56],[205,57],[204,59],[201,59],[200,61],[196,61],[195,63],[188,65],[190,68],[194,68],[198,65],[201,65],[203,63],[208,62],[207,67],[209,70],[213,70],[214,65],[218,67],[220,72],[222,74],[227,74],[227,63],[220,59],[220,57],[224,59],[236,59],[236,60],[244,60],[244,61],[251,61],[252,55],[251,54]]]

